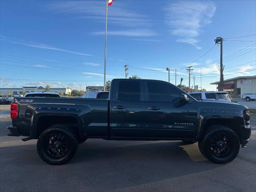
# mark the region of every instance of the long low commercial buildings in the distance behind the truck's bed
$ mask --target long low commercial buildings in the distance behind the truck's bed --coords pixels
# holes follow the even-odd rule
[[[45,88],[42,86],[39,87],[22,87],[22,88],[0,88],[0,95],[6,96],[9,92],[11,94],[22,94],[22,92],[41,92],[44,91]],[[50,92],[66,93],[68,95],[71,94],[71,88],[50,88]]]

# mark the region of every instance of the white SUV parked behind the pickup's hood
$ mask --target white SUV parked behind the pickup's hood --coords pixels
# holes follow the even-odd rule
[[[195,99],[202,100],[219,100],[232,102],[231,96],[226,91],[202,91],[202,92],[192,92],[188,93]]]

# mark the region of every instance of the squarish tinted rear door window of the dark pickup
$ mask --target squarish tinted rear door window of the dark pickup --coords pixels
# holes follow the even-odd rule
[[[119,82],[118,100],[140,101],[140,82]]]

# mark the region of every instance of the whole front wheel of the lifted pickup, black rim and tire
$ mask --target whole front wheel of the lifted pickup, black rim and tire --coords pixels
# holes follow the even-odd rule
[[[240,141],[237,134],[223,125],[212,125],[198,141],[200,152],[208,160],[225,164],[236,158],[240,150]]]

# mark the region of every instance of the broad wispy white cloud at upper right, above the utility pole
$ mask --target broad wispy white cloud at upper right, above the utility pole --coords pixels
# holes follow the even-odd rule
[[[211,23],[215,10],[216,6],[211,1],[173,1],[164,8],[165,23],[170,28],[170,34],[180,37],[177,42],[201,49],[196,37],[205,24]]]

